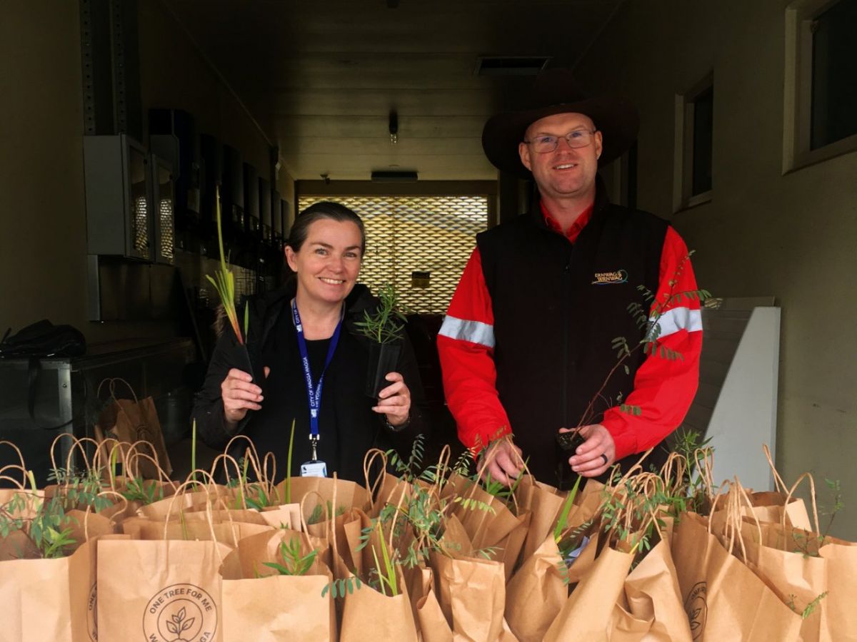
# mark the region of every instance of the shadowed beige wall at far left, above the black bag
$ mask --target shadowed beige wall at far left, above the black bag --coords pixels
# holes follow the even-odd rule
[[[86,317],[78,25],[77,3],[3,3],[0,333]]]

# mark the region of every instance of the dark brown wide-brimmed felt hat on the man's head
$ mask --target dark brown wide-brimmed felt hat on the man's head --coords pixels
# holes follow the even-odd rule
[[[497,169],[530,178],[518,156],[518,143],[530,124],[545,116],[575,113],[589,116],[602,133],[598,165],[619,158],[637,139],[639,115],[626,98],[586,98],[568,69],[548,69],[536,76],[518,110],[491,116],[482,129],[482,149]]]

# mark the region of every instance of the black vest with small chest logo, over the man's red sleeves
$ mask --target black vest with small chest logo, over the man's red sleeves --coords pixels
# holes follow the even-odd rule
[[[637,287],[656,292],[667,227],[647,212],[609,204],[599,187],[590,222],[573,245],[546,227],[537,203],[477,235],[494,311],[497,390],[536,479],[573,483],[556,431],[584,418],[617,363],[614,338],[625,336],[631,348],[642,338],[627,306],[640,302],[648,311]],[[598,423],[631,393],[643,360],[638,350],[626,360],[628,373],[616,369],[587,423]],[[620,464],[637,460],[631,455]]]

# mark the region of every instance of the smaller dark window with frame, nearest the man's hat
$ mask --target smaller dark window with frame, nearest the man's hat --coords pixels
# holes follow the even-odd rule
[[[708,74],[675,96],[674,211],[710,201],[713,139],[714,84]]]

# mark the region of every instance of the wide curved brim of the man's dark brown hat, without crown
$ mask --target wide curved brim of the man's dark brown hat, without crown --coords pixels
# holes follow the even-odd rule
[[[521,163],[518,143],[533,122],[554,114],[584,114],[602,133],[599,167],[619,158],[637,140],[637,109],[625,98],[586,98],[572,103],[551,104],[536,109],[506,112],[488,119],[482,129],[482,149],[491,164],[501,171],[531,178],[530,170]]]

